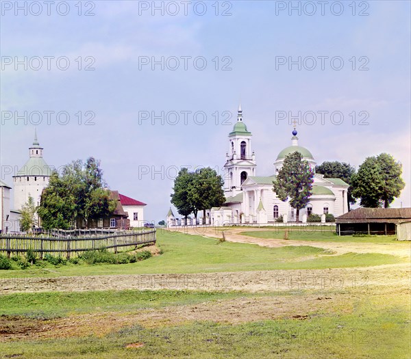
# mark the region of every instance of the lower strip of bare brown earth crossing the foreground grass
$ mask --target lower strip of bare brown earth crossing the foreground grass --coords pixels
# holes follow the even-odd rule
[[[136,310],[133,313],[106,312],[73,314],[66,318],[38,320],[22,317],[0,317],[3,341],[104,336],[121,328],[140,325],[157,328],[164,325],[181,325],[190,321],[219,323],[245,323],[269,319],[305,320],[322,315],[353,313],[355,306],[367,297],[395,295],[404,303],[410,302],[409,287],[396,289],[378,287],[361,288],[338,293],[318,292],[296,295],[240,297],[233,300],[216,300],[193,305],[167,306]]]

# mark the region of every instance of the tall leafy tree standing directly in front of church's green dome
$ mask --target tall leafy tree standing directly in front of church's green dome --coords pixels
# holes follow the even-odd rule
[[[306,207],[311,196],[313,182],[314,170],[297,151],[286,156],[281,170],[273,181],[273,191],[278,198],[283,202],[290,198],[290,206],[297,210],[297,222],[299,210]]]

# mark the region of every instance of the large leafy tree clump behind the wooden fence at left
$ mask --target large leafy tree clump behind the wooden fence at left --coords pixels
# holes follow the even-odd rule
[[[107,217],[116,209],[105,189],[100,163],[93,157],[65,165],[61,176],[51,174],[49,185],[42,193],[38,213],[45,229],[68,229],[73,220],[82,217],[86,226],[90,219]]]

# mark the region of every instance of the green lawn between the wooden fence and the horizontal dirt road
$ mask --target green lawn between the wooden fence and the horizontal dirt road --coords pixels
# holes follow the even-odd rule
[[[403,243],[392,243],[401,245]],[[270,269],[324,269],[366,267],[399,263],[403,258],[390,254],[347,253],[334,255],[312,246],[266,248],[254,244],[219,243],[216,239],[179,232],[158,232],[163,254],[124,265],[62,265],[25,270],[0,271],[0,279],[12,277],[90,276],[107,274],[187,274],[219,271]]]

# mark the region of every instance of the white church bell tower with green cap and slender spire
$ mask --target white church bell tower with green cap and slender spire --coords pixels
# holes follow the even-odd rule
[[[242,121],[241,104],[238,107],[237,122],[228,135],[229,150],[226,154],[225,196],[236,196],[241,192],[242,183],[249,176],[256,176],[256,155],[251,150],[251,132]]]

